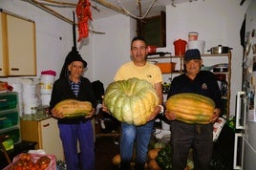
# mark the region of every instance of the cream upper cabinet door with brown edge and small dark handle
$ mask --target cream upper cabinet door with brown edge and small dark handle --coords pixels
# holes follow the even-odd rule
[[[35,24],[7,14],[9,75],[36,75]]]

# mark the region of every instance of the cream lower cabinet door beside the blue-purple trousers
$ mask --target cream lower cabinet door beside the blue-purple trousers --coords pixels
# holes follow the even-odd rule
[[[39,122],[38,128],[40,129],[39,132],[41,131],[42,149],[46,154],[55,155],[56,159],[64,160],[57,120],[53,117],[44,119]]]

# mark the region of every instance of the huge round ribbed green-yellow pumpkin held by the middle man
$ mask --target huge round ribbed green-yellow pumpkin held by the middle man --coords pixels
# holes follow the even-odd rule
[[[111,83],[107,87],[104,104],[119,121],[139,126],[153,114],[159,104],[159,96],[148,81],[130,78]]]

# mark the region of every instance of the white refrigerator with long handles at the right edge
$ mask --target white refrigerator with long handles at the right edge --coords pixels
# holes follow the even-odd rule
[[[243,87],[236,97],[233,168],[256,169],[256,1],[245,14]]]

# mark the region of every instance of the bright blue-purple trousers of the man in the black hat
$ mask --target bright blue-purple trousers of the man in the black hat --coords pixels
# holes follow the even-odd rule
[[[95,170],[95,141],[92,122],[58,124],[68,170]],[[77,154],[77,140],[80,158]],[[79,168],[80,163],[80,168]]]

